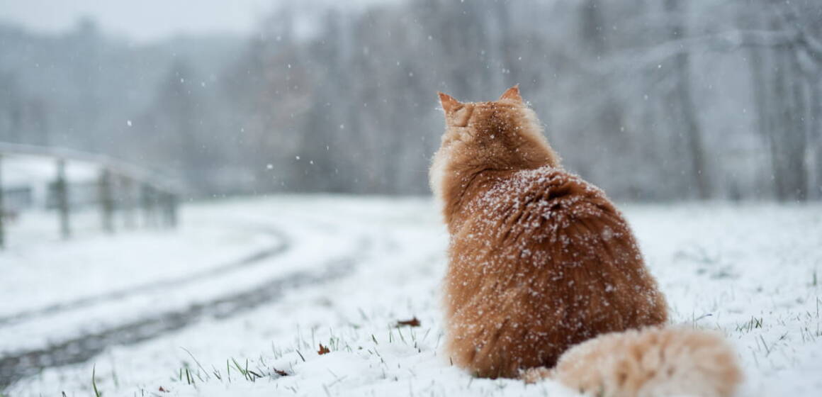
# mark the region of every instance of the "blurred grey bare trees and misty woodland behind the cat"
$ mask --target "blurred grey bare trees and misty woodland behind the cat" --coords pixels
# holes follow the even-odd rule
[[[252,37],[135,44],[84,20],[0,25],[0,48],[0,140],[114,155],[196,196],[425,194],[436,91],[520,83],[566,167],[615,198],[822,199],[815,0],[279,7]]]

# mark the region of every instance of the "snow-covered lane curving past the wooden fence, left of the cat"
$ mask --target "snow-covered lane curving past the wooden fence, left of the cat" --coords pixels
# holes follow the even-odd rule
[[[310,226],[295,226],[287,213],[245,216],[230,204],[191,212],[193,219],[178,233],[17,247],[5,257],[10,283],[0,297],[7,309],[0,316],[0,384],[36,373],[36,367],[85,361],[111,344],[152,339],[204,316],[233,316],[287,289],[337,277],[370,243],[355,228],[342,233],[321,219],[299,219],[296,224]],[[60,278],[37,277],[37,270],[49,274],[55,262],[72,267],[55,271]],[[64,288],[72,274],[79,288]],[[101,274],[113,282],[101,282]]]

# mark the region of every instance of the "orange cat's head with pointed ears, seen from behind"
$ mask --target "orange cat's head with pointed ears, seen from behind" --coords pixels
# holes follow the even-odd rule
[[[446,132],[429,173],[437,198],[443,198],[443,185],[449,176],[559,165],[536,113],[520,96],[519,85],[491,102],[461,103],[450,95],[439,95]]]

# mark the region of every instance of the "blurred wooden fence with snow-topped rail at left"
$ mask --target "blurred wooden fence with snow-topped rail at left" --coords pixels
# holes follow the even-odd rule
[[[72,236],[72,181],[67,176],[67,166],[70,163],[91,164],[99,170],[94,183],[97,187],[96,203],[99,205],[100,225],[104,232],[115,231],[114,216],[117,210],[122,212],[125,227],[135,228],[137,207],[143,212],[143,224],[166,228],[174,228],[178,224],[182,187],[172,179],[105,155],[59,147],[0,142],[0,248],[6,246],[7,219],[10,215],[4,200],[2,179],[6,174],[3,163],[19,156],[53,161],[54,177],[48,182],[47,196],[58,212],[58,229],[62,238]]]

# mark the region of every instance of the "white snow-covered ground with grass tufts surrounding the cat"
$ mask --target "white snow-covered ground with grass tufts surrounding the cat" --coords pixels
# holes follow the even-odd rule
[[[674,322],[737,347],[740,395],[820,395],[822,206],[623,210]],[[0,253],[0,379],[25,375],[2,395],[576,395],[474,379],[442,356],[446,233],[431,201],[283,196],[188,205],[182,219]],[[35,360],[25,352],[75,357],[67,340],[99,353],[14,369]]]

